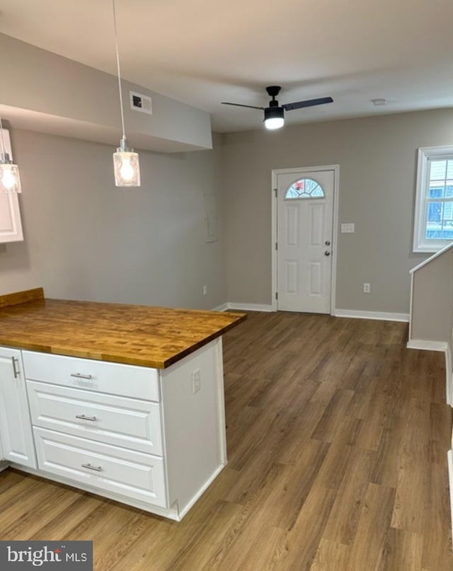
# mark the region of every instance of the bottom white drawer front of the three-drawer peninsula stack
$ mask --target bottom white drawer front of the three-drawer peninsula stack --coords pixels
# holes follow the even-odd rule
[[[33,428],[43,471],[166,507],[164,460],[150,454]]]

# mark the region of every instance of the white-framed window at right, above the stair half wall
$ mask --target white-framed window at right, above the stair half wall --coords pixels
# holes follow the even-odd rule
[[[453,146],[418,149],[414,252],[437,252],[453,241]]]

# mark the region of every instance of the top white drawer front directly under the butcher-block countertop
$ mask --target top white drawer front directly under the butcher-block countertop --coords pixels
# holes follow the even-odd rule
[[[33,381],[159,402],[157,369],[33,351],[23,351],[23,363]]]

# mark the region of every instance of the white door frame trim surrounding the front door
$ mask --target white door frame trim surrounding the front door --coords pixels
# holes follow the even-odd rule
[[[272,217],[272,311],[277,311],[277,175],[291,173],[314,173],[316,171],[333,171],[333,218],[332,218],[332,272],[331,272],[331,316],[336,313],[336,282],[337,282],[337,246],[338,246],[338,203],[340,202],[340,165],[301,166],[294,168],[273,168],[271,185],[271,217]]]

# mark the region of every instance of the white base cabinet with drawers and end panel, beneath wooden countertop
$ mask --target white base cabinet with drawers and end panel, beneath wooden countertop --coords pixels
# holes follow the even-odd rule
[[[11,357],[21,367],[23,359],[33,437],[23,376],[21,393],[13,401],[10,395],[9,405],[2,394],[1,402],[12,411],[20,401],[26,412],[16,429],[28,427],[32,449],[34,439],[38,468],[28,471],[180,520],[224,467],[220,338],[162,370],[0,351],[8,382],[14,378]],[[23,449],[23,437],[20,444]],[[35,467],[25,455],[6,458],[17,468]]]

